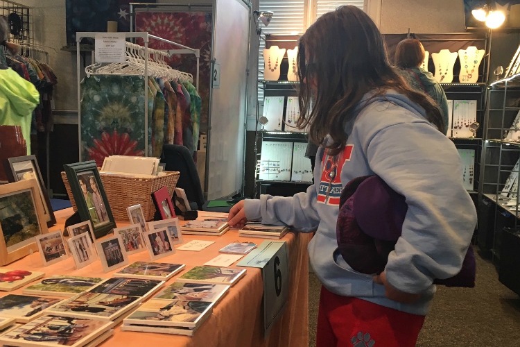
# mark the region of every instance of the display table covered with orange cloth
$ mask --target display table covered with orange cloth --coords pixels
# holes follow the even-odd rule
[[[73,213],[72,208],[55,212],[58,223],[49,231],[63,230],[64,221]],[[117,223],[118,227],[128,225]],[[223,236],[184,235],[184,243],[193,239],[214,241],[215,243],[200,252],[177,251],[174,255],[163,257],[157,262],[186,264],[184,271],[202,265],[216,257],[218,250],[235,241],[250,241],[261,244],[265,239],[239,237],[237,230],[229,230]],[[309,260],[307,244],[309,235],[289,232],[283,239],[288,246],[289,295],[286,309],[281,319],[272,327],[268,337],[263,335],[262,276],[260,269],[245,268],[247,273],[231,287],[228,294],[217,303],[213,313],[200,325],[193,337],[166,335],[151,332],[121,331],[119,325],[114,336],[101,346],[309,346]],[[178,246],[178,245],[177,245]],[[129,262],[150,261],[147,251],[129,255]],[[232,265],[232,266],[235,266]],[[17,262],[6,265],[8,269],[43,271],[46,276],[71,275],[110,278],[112,272],[103,273],[100,261],[83,269],[76,270],[73,259],[42,268],[39,253],[28,255]],[[166,282],[171,284],[180,276]],[[23,288],[22,288],[23,289]],[[19,294],[22,289],[11,291]]]

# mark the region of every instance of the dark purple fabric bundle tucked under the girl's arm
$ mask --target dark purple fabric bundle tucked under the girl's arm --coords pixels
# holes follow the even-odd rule
[[[379,176],[361,176],[351,180],[340,198],[336,225],[338,248],[352,269],[361,273],[381,273],[401,236],[408,205]],[[475,286],[475,255],[469,245],[460,272],[437,285]]]

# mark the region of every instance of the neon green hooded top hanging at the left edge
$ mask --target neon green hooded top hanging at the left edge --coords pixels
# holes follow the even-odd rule
[[[35,86],[11,68],[0,69],[0,124],[19,125],[31,152],[31,117],[40,103]]]

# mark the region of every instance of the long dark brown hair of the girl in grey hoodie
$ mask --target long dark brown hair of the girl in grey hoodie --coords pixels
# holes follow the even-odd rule
[[[390,66],[381,33],[355,6],[340,6],[322,15],[302,35],[298,76],[297,125],[310,124],[309,136],[316,144],[331,135],[327,147],[332,155],[347,143],[345,124],[354,117],[356,103],[370,91],[372,97],[390,89],[408,96],[426,110],[428,121],[444,129],[440,110],[424,94],[411,90]]]

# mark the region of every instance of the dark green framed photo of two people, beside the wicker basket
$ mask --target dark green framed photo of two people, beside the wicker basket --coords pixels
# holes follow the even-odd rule
[[[116,227],[96,162],[65,164],[65,173],[82,221],[92,221],[94,237],[107,235]]]

